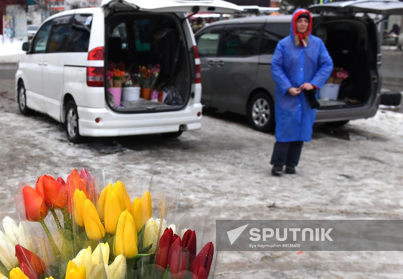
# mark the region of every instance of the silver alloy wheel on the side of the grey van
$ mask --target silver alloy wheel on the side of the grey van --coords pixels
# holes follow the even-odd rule
[[[249,124],[258,131],[274,130],[274,104],[268,94],[259,92],[248,103]]]

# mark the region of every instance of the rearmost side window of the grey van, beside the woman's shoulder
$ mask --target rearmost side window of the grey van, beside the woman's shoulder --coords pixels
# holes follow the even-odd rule
[[[289,23],[266,23],[260,45],[260,54],[273,54],[278,41],[288,35],[290,35]]]

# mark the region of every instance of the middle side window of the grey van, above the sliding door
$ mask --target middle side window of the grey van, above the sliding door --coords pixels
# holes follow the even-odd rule
[[[258,30],[238,29],[227,31],[222,56],[245,56],[256,54]]]

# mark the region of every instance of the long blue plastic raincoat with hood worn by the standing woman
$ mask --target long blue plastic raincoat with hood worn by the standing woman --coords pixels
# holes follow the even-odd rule
[[[295,45],[295,23],[301,13],[310,16],[307,47]],[[291,21],[291,34],[278,42],[272,59],[272,77],[276,82],[276,141],[309,142],[312,138],[312,126],[315,122],[316,109],[301,91],[297,96],[287,92],[290,87],[301,86],[305,82],[321,88],[333,70],[333,62],[322,40],[310,35],[312,16],[305,9],[297,9]]]

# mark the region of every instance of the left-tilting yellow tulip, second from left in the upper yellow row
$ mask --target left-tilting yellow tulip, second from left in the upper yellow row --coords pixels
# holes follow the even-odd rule
[[[89,239],[98,240],[105,236],[105,228],[102,226],[100,217],[89,199],[84,202],[84,226]]]

